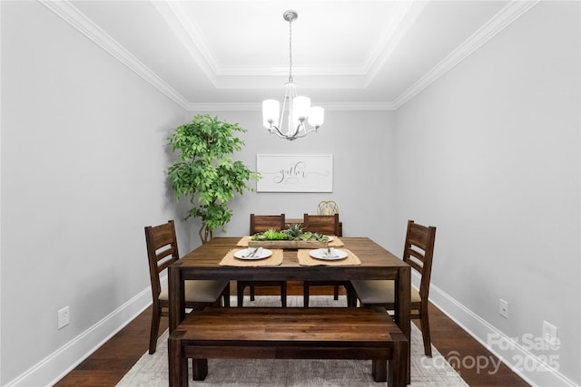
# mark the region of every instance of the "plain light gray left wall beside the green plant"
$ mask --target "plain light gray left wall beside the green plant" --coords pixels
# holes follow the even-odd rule
[[[162,144],[186,116],[43,5],[1,6],[0,384],[45,385],[139,311],[118,308],[149,285],[143,226],[176,218]]]

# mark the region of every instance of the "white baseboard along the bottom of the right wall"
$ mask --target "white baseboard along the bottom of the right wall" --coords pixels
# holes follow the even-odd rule
[[[419,276],[416,276],[416,273],[412,275],[412,284],[419,284]],[[555,368],[549,366],[551,360],[555,363],[558,359],[540,359],[528,351],[521,343],[515,343],[514,340],[511,340],[506,334],[488,324],[466,306],[459,304],[458,301],[443,292],[438,286],[430,285],[429,301],[529,384],[539,387],[576,386],[575,382],[572,382]],[[463,360],[458,359],[458,362]],[[469,361],[468,364],[478,366],[478,361],[485,359],[466,360]],[[548,362],[543,360],[548,360]]]

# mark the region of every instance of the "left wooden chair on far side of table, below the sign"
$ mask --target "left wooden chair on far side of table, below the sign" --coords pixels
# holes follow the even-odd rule
[[[281,215],[255,215],[251,214],[251,236],[264,232],[269,229],[275,229],[281,231],[286,228],[286,220],[284,214]],[[251,288],[251,301],[255,299],[255,286],[279,286],[281,287],[281,305],[282,307],[287,306],[287,283],[286,281],[238,281],[237,293],[238,293],[238,306],[243,306],[244,302],[244,289],[250,286]]]

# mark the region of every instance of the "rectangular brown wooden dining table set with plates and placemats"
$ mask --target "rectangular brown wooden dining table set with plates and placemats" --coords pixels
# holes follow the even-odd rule
[[[241,237],[214,237],[182,256],[168,268],[170,333],[185,318],[183,281],[228,279],[248,281],[350,281],[354,279],[395,281],[394,320],[409,341],[410,266],[369,237],[341,237],[345,249],[359,258],[353,266],[301,266],[297,250],[283,251],[279,266],[221,266],[222,258],[237,246]],[[407,356],[409,382],[409,351]]]

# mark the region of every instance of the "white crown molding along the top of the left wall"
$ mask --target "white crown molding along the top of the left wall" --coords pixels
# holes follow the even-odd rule
[[[133,71],[133,73],[136,73],[146,82],[152,84],[154,88],[162,92],[170,100],[180,105],[183,109],[187,109],[188,102],[180,93],[173,90],[166,82],[163,82],[157,74],[153,73],[153,71],[135,58],[132,53],[125,50],[121,44],[117,43],[109,34],[106,34],[68,0],[39,0],[39,2],[53,11],[54,14],[60,16],[65,22],[74,26],[74,28],[92,40],[94,44],[97,44],[107,53],[110,53],[115,59]]]

